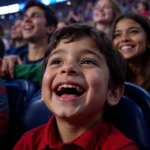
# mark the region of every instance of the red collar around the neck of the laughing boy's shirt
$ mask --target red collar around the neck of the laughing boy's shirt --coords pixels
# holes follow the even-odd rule
[[[102,131],[109,131],[109,126],[104,124],[104,119],[100,119],[79,137],[64,144],[75,144],[83,149],[94,149],[102,135]],[[54,149],[59,149],[61,147],[62,144],[57,140],[58,134],[56,131],[56,121],[53,115],[44,129],[44,133],[39,145],[40,150],[44,150],[47,146]]]

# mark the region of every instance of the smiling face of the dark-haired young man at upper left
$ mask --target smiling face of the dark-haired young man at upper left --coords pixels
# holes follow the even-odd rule
[[[24,39],[40,40],[48,36],[48,27],[46,26],[46,18],[44,11],[37,7],[30,7],[24,15],[22,23]]]

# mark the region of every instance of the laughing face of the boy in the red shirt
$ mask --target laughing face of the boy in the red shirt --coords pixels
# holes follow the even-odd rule
[[[108,88],[105,57],[90,37],[66,41],[62,40],[50,55],[42,98],[57,117],[102,115],[105,102],[111,103],[115,97]]]

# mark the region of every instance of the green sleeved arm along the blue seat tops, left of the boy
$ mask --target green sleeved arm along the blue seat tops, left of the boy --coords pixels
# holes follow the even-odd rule
[[[42,64],[15,65],[15,78],[30,80],[39,85],[42,80]]]

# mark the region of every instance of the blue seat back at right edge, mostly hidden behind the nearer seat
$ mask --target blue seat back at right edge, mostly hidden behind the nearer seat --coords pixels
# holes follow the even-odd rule
[[[124,95],[133,99],[143,111],[150,130],[150,94],[142,87],[126,82]]]

